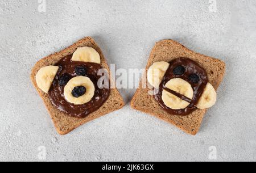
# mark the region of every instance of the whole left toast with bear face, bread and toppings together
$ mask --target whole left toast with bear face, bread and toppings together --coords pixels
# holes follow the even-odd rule
[[[98,85],[101,77],[104,82],[113,81],[105,57],[91,37],[42,58],[32,68],[31,81],[59,134],[125,105],[114,85]]]

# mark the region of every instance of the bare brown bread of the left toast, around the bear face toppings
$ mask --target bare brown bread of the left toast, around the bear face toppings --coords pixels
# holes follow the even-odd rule
[[[51,115],[51,118],[53,120],[53,123],[55,125],[57,132],[61,135],[67,134],[71,132],[73,129],[77,128],[78,126],[85,124],[91,120],[97,119],[100,116],[103,116],[103,115],[106,115],[107,113],[121,109],[125,105],[125,103],[123,102],[122,96],[119,94],[117,88],[112,88],[110,91],[108,100],[106,100],[106,102],[100,107],[100,109],[98,109],[93,113],[90,113],[88,116],[86,116],[83,119],[78,119],[76,117],[70,117],[65,113],[56,109],[52,105],[51,100],[48,97],[48,94],[44,93],[42,90],[39,89],[35,79],[35,75],[36,73],[38,73],[38,70],[44,66],[55,65],[61,58],[69,54],[73,54],[78,47],[92,47],[96,49],[97,52],[100,54],[101,66],[107,69],[110,74],[108,64],[105,60],[104,55],[102,54],[101,49],[98,47],[96,42],[91,37],[85,37],[84,39],[77,41],[75,44],[71,45],[70,47],[64,50],[61,50],[58,53],[51,54],[43,58],[42,60],[36,63],[36,65],[32,68],[32,71],[31,71],[31,81],[34,87],[36,88],[36,90],[38,91],[40,97],[43,99],[43,102],[46,105],[49,115]],[[110,77],[110,80],[112,80],[111,77]]]

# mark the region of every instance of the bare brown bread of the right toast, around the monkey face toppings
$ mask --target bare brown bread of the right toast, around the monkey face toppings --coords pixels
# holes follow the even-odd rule
[[[170,62],[175,58],[180,57],[191,58],[191,60],[197,62],[201,67],[203,67],[207,71],[209,82],[213,85],[215,90],[217,90],[224,78],[225,63],[217,60],[216,58],[195,53],[174,40],[162,40],[155,44],[155,47],[152,49],[150,54],[150,58],[146,66],[146,73],[143,75],[143,78],[147,77],[147,70],[152,64],[154,64],[154,62]],[[131,100],[131,107],[138,111],[156,116],[168,123],[174,124],[188,134],[195,135],[199,132],[201,122],[205,112],[207,112],[207,109],[196,109],[196,111],[192,112],[188,116],[170,115],[159,106],[154,95],[148,95],[148,91],[150,91],[148,87],[142,88],[141,82],[133,96],[133,99]]]

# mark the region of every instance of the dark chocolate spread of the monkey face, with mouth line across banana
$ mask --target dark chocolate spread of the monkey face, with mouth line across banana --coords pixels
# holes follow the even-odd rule
[[[183,70],[180,74],[175,74],[175,68],[180,67]],[[191,84],[193,88],[193,98],[189,99],[185,97],[184,95],[181,95],[175,91],[172,91],[165,87],[166,83],[174,78],[181,78],[187,81]],[[170,66],[168,67],[166,74],[163,77],[163,81],[160,83],[159,89],[155,89],[155,99],[158,101],[160,106],[168,113],[172,115],[181,115],[186,116],[189,115],[191,112],[195,111],[196,104],[199,102],[199,99],[201,95],[204,92],[204,88],[208,83],[208,77],[206,71],[199,66],[195,61],[192,61],[189,58],[177,58],[170,62]],[[163,90],[166,90],[170,92],[171,94],[174,94],[175,96],[179,97],[182,100],[187,101],[189,106],[185,109],[171,109],[167,107],[163,100],[162,100],[162,92]]]

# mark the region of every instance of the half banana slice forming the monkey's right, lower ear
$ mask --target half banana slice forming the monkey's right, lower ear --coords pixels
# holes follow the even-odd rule
[[[212,107],[217,100],[217,94],[214,90],[213,86],[210,83],[207,83],[207,86],[204,89],[199,102],[197,103],[197,108],[199,109],[207,109]]]

